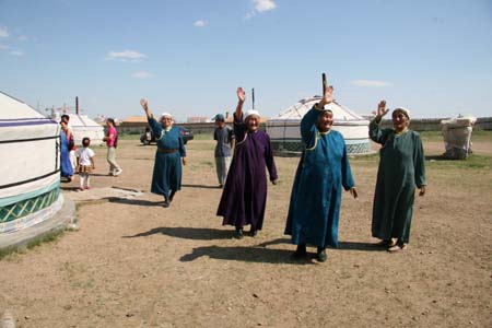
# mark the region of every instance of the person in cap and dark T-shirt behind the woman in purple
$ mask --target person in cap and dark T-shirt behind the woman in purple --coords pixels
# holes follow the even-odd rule
[[[215,130],[213,140],[215,144],[215,169],[219,179],[219,188],[223,188],[231,165],[231,150],[234,149],[236,138],[234,130],[225,125],[225,117],[222,114],[215,115]]]

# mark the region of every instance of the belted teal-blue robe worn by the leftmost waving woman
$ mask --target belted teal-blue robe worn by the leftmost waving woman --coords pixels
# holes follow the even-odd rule
[[[149,118],[149,126],[157,140],[151,191],[168,197],[171,190],[181,189],[181,157],[186,156],[181,129],[172,127],[166,131],[153,117]],[[176,150],[176,152],[164,153],[161,150]]]

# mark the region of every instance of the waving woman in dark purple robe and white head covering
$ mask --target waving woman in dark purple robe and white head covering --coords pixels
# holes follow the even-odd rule
[[[259,130],[260,115],[250,109],[243,113],[246,93],[237,89],[237,107],[234,113],[236,147],[225,180],[216,214],[223,216],[223,225],[236,227],[235,237],[243,238],[243,227],[250,224],[255,236],[261,230],[267,204],[267,174],[277,185],[277,168],[270,145],[270,138]]]

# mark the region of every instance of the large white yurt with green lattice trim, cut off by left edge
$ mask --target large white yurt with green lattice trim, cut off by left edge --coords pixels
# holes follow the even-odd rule
[[[0,92],[0,236],[61,209],[59,134],[56,121]]]

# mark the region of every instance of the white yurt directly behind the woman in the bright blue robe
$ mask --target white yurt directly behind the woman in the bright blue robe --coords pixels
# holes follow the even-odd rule
[[[301,99],[267,121],[267,132],[276,154],[301,154],[301,120],[320,99],[320,96]],[[325,108],[333,113],[332,129],[343,134],[349,154],[371,153],[368,120],[337,102],[326,105]]]

